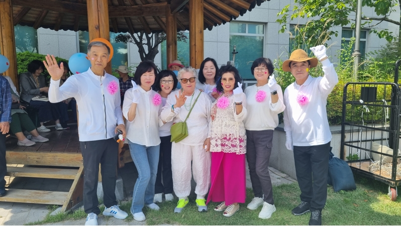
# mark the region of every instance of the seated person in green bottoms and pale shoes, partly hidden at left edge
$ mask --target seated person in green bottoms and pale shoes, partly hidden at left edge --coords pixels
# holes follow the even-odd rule
[[[19,97],[11,89],[12,105],[11,105],[11,122],[10,132],[14,133],[18,139],[18,146],[32,146],[35,142],[46,142],[49,141],[39,135],[35,125],[29,118],[28,114],[24,111],[25,107],[19,104]],[[22,129],[29,131],[32,134],[32,138],[29,140],[25,137]]]

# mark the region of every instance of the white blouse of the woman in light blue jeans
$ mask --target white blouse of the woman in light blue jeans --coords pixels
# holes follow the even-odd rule
[[[153,90],[145,91],[140,86],[134,92],[139,92],[140,98],[132,121],[128,121],[128,110],[132,104],[132,88],[125,92],[122,105],[122,114],[127,119],[125,121],[127,139],[145,146],[159,145],[159,112],[162,104],[158,106],[153,104],[154,96],[159,94]]]

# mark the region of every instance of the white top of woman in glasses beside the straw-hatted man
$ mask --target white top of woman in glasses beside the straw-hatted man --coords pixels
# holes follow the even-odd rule
[[[266,92],[266,98],[262,102],[256,101],[256,93],[258,90]],[[269,86],[266,84],[261,87],[256,85],[248,86],[245,89],[247,116],[244,120],[246,130],[274,130],[279,125],[279,113],[282,113],[286,106],[283,101],[283,91],[277,84],[277,94],[279,101],[272,104],[271,92]]]

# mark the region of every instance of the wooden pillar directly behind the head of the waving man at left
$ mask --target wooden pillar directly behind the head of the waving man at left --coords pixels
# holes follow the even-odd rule
[[[88,0],[87,8],[89,41],[94,38],[104,38],[106,40],[110,40],[107,0]],[[111,74],[111,61],[108,62],[104,70],[106,70],[107,73]]]

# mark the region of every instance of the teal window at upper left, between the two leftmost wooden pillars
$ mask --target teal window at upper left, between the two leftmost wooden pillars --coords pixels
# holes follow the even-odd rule
[[[15,50],[17,53],[29,51],[38,53],[38,31],[29,26],[14,26]]]

